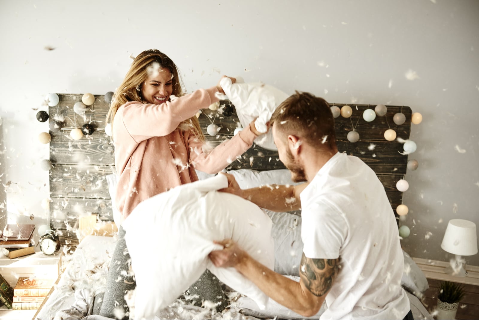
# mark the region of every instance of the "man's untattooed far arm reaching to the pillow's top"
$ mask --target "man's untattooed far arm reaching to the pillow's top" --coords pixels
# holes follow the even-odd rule
[[[239,195],[257,206],[276,212],[299,210],[301,208],[299,194],[308,185],[308,183],[298,185],[267,184],[242,190],[232,174],[223,174],[228,177],[228,188],[219,191]]]

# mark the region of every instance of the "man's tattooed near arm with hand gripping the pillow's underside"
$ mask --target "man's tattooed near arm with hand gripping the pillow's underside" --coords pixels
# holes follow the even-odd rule
[[[225,249],[210,253],[215,266],[235,267],[268,297],[306,317],[318,313],[339,271],[339,259],[310,259],[303,254],[297,283],[257,262],[231,240],[218,243]]]

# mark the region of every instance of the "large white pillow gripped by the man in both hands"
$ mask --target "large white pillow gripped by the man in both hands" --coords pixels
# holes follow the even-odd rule
[[[232,239],[254,259],[274,268],[271,219],[256,205],[215,190],[225,175],[187,183],[138,204],[123,222],[135,272],[135,316],[151,319],[206,270],[265,308],[268,297],[234,268],[216,268],[208,254]]]

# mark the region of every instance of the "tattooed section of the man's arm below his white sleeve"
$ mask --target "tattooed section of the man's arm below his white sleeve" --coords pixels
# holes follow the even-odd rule
[[[338,259],[310,259],[304,253],[301,258],[299,276],[308,290],[321,297],[331,289],[332,282],[339,271]]]

